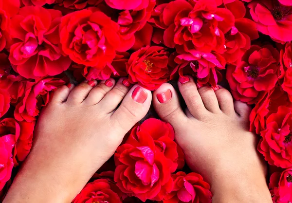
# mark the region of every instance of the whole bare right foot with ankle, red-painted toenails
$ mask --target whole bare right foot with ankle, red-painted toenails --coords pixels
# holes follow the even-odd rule
[[[257,137],[248,130],[251,108],[234,103],[224,88],[198,89],[189,79],[178,82],[185,111],[168,83],[152,95],[158,115],[173,126],[188,166],[211,184],[213,203],[272,203]]]

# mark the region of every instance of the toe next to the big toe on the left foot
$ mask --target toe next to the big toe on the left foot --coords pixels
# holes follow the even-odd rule
[[[120,78],[114,88],[105,95],[98,105],[101,105],[102,109],[108,113],[114,111],[129,92],[129,89],[128,79]]]

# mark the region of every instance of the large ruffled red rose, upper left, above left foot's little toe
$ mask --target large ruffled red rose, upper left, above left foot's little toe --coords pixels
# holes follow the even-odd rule
[[[69,68],[71,60],[58,48],[61,17],[57,10],[25,6],[11,19],[14,43],[9,60],[16,72],[26,78],[38,78]]]

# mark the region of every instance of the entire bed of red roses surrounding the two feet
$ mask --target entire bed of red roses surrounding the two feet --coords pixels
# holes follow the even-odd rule
[[[0,0],[0,201],[30,152],[37,117],[69,82],[128,77],[148,90],[227,80],[274,203],[292,202],[292,0]],[[73,203],[210,203],[171,125],[137,124]]]

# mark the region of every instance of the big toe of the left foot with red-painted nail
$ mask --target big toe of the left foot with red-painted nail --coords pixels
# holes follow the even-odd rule
[[[119,108],[111,115],[112,126],[127,133],[144,118],[150,108],[152,95],[149,90],[134,85],[123,99]]]

